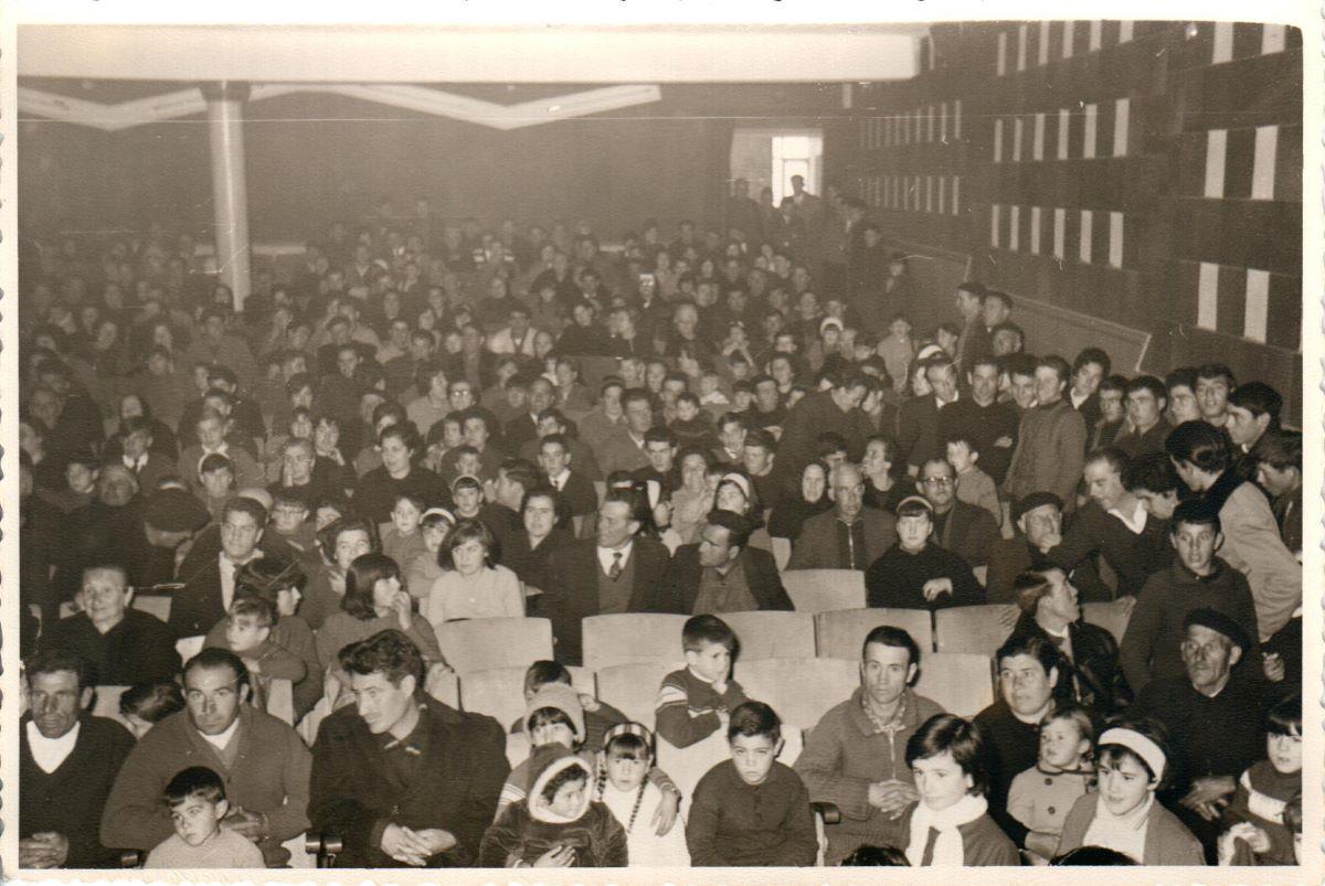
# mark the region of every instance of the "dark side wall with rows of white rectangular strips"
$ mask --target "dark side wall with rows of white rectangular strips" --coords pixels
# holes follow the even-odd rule
[[[890,237],[1151,332],[1147,368],[1265,379],[1297,420],[1301,77],[1292,28],[941,25],[918,77],[856,90],[825,167]]]

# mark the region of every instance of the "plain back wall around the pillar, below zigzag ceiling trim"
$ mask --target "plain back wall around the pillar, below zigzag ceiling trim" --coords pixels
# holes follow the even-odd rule
[[[506,101],[556,91],[517,87]],[[734,123],[818,119],[839,105],[837,85],[668,85],[651,105],[498,131],[339,95],[252,102],[250,232],[257,241],[302,240],[362,215],[379,195],[428,196],[444,216],[584,219],[607,237],[648,216],[668,226],[684,217],[716,224]],[[154,219],[211,229],[200,115],[114,134],[29,121],[19,151],[21,221],[33,234],[140,229]]]

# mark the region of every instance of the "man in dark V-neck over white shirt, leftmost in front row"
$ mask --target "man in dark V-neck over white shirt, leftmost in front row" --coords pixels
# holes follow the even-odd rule
[[[97,832],[134,736],[86,714],[93,686],[77,656],[42,652],[26,673],[32,707],[19,722],[19,866],[118,867],[119,853]]]

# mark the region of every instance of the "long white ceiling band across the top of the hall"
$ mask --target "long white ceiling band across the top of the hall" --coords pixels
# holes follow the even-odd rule
[[[925,24],[17,26],[20,77],[419,82],[905,79]]]

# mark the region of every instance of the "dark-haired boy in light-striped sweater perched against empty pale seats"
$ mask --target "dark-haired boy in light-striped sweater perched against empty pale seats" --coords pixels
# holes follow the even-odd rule
[[[659,687],[660,736],[689,747],[727,726],[731,711],[746,701],[741,683],[731,679],[735,644],[735,633],[717,616],[686,620],[681,629],[685,669],[664,677]]]

